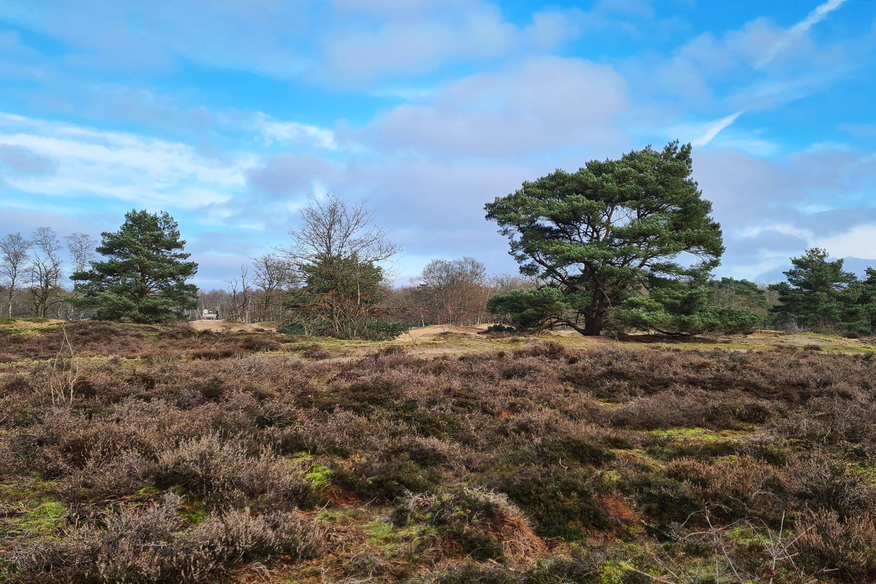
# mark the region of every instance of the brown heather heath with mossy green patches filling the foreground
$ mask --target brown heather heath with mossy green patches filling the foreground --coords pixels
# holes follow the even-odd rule
[[[867,340],[215,326],[0,322],[0,581],[876,580]]]

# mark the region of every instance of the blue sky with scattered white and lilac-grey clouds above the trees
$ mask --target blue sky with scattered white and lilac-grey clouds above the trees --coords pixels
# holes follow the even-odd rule
[[[876,265],[874,0],[0,0],[0,235],[166,210],[224,287],[307,195],[514,272],[484,203],[675,138],[720,276]]]

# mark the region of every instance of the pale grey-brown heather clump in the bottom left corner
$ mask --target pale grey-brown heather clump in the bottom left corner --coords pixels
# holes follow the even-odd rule
[[[322,532],[293,513],[252,516],[230,510],[187,527],[180,497],[102,516],[103,526],[75,527],[61,539],[35,542],[9,559],[20,582],[212,583],[236,562],[273,554],[312,557]]]

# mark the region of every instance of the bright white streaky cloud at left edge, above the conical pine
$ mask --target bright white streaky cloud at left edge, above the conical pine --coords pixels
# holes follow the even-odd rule
[[[52,172],[6,177],[25,193],[199,208],[228,201],[244,187],[243,168],[234,161],[137,134],[0,113],[0,143],[50,161]]]

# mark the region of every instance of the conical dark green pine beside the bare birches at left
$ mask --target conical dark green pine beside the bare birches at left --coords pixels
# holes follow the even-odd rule
[[[118,231],[104,231],[97,252],[106,261],[74,274],[84,292],[75,302],[95,309],[95,318],[164,322],[183,318],[197,306],[197,286],[187,280],[198,264],[187,262],[180,229],[173,217],[132,210]]]

